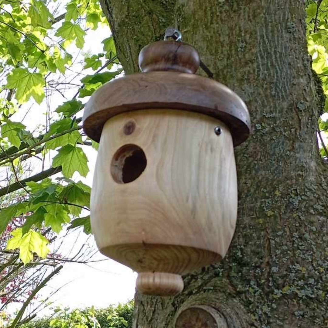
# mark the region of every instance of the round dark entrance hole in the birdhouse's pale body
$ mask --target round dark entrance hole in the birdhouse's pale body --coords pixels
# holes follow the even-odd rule
[[[111,174],[117,183],[129,183],[137,179],[147,166],[144,151],[137,145],[124,145],[113,156]]]

